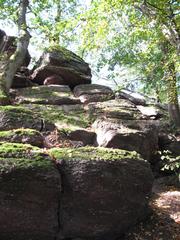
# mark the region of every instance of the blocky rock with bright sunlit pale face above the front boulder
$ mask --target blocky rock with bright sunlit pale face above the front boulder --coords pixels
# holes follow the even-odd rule
[[[97,119],[93,128],[97,134],[97,145],[101,147],[119,148],[140,153],[151,161],[158,150],[157,129],[152,126],[143,127],[118,119]],[[133,126],[134,125],[134,126]]]

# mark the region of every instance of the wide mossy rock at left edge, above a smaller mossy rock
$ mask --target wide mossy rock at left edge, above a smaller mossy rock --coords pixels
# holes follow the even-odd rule
[[[31,110],[19,106],[0,107],[0,131],[31,128],[38,131],[53,129],[54,125],[44,121]]]

